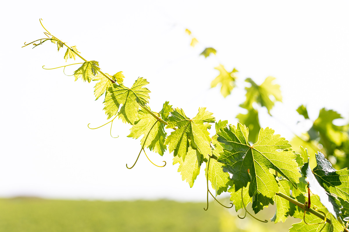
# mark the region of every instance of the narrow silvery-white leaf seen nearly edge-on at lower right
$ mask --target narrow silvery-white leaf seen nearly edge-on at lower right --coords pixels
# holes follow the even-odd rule
[[[306,181],[309,183],[309,188],[313,194],[319,195],[322,205],[324,205],[327,210],[338,218],[341,213],[341,203],[335,197],[330,195],[326,190],[321,187],[314,174],[312,173],[309,163],[304,163],[304,166],[300,169],[302,174],[306,178]]]

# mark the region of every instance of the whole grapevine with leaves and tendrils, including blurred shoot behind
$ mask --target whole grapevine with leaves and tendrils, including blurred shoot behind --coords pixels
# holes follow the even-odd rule
[[[340,118],[335,111],[320,111],[319,118],[313,122],[312,131],[309,131],[309,139],[295,137],[298,139],[295,144],[298,145],[301,141],[303,145],[297,151],[292,149],[285,138],[274,134],[273,129],[261,128],[259,125],[256,103],[260,107],[266,107],[271,115],[274,103],[282,101],[280,86],[274,84],[273,77],[267,77],[261,85],[251,78],[246,79],[250,87],[245,88],[246,100],[240,106],[248,113],[237,115],[240,121],[237,125],[230,125],[226,120],[217,121],[205,107],[200,107],[194,118],[188,118],[183,109],[173,108],[169,102],[163,104],[160,112],[153,112],[148,105],[150,90],[145,87],[149,83],[146,79],[138,78],[131,88],[124,86],[125,77],[122,72],[114,75],[102,72],[97,61],[88,61],[80,55],[76,46],[68,46],[51,34],[42,24],[42,19],[40,24],[48,38],[24,43],[23,47],[30,44],[37,47],[47,41],[55,43],[58,51],[66,47],[66,62],[72,58],[75,60],[76,57],[84,62],[57,68],[63,67],[64,71],[67,66],[81,65],[74,71],[75,81],[80,78],[89,83],[98,81],[94,95],[98,99],[104,94],[103,110],[107,119],[112,120],[96,128],[88,127],[98,129],[110,123],[111,135],[113,121],[118,118],[132,126],[128,137],[137,139],[142,136],[138,157],[131,167],[126,164],[128,169],[136,165],[142,151],[148,158],[146,148],[161,156],[169,150],[169,153],[173,153],[173,164],[179,163],[178,171],[182,180],[186,180],[190,187],[199,175],[200,166],[205,163],[207,206],[204,210],[208,210],[210,193],[223,207],[231,208],[235,205],[236,211],[244,209],[244,216],[238,216],[241,219],[247,213],[257,219],[247,211],[249,203],[252,203],[254,214],[275,203],[276,212],[271,221],[284,222],[288,216],[302,219],[302,222],[292,225],[292,232],[348,231],[348,160],[339,158],[336,167],[342,169],[336,170],[324,155],[334,156],[339,151],[349,153],[348,125],[332,124],[334,119]],[[191,36],[191,46],[199,43],[191,31],[187,29],[186,33]],[[217,51],[209,47],[200,55],[208,57],[216,54]],[[220,74],[211,82],[211,87],[221,85],[221,94],[226,97],[236,87],[238,71],[234,68],[228,72],[222,64],[215,69]],[[305,106],[300,106],[297,112],[305,120],[309,119]],[[216,134],[210,136],[208,129],[212,125],[215,126]],[[172,131],[167,135],[165,129]],[[312,170],[308,149],[316,149],[314,144],[319,142],[324,145],[324,149],[316,151],[317,166]],[[150,161],[149,158],[148,160]],[[166,162],[163,166],[153,165],[164,167]],[[209,190],[209,182],[215,190],[214,194]],[[227,191],[231,193],[231,206],[224,206],[216,199],[217,195]]]

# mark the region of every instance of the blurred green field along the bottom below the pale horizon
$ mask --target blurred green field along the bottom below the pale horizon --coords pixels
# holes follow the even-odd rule
[[[206,202],[0,199],[0,232],[273,232],[290,227],[239,219],[235,210],[228,212],[216,202],[210,202],[208,211],[203,207]],[[275,209],[266,210],[263,216],[271,217]]]

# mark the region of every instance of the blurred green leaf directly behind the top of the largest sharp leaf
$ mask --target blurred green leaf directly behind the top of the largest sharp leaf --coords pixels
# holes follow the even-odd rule
[[[247,114],[238,114],[236,118],[243,125],[248,127],[248,141],[255,143],[258,139],[258,133],[261,129],[259,125],[258,111],[250,108]]]

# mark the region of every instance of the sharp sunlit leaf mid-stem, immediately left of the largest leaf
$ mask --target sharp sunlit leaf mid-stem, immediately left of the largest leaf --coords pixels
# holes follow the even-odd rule
[[[205,158],[211,155],[211,138],[207,129],[211,128],[209,123],[215,122],[212,113],[206,111],[205,107],[199,108],[199,113],[193,119],[188,118],[182,109],[175,109],[169,117],[169,125],[166,128],[178,127],[171,132],[166,138],[166,145],[169,145],[169,152],[173,152],[173,156],[178,155],[183,160],[189,147],[189,139],[191,146],[203,154]]]

